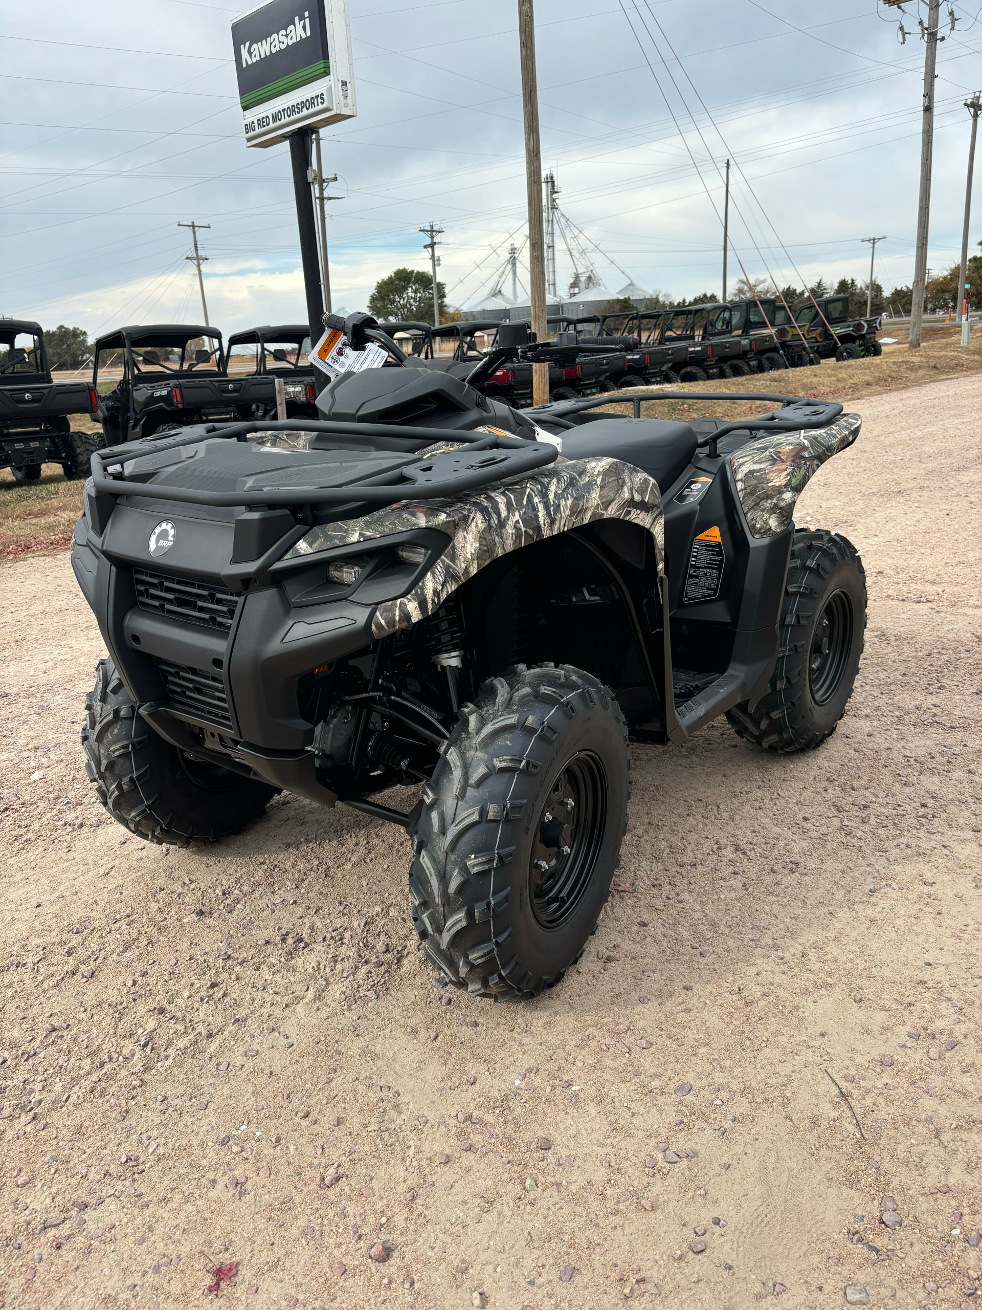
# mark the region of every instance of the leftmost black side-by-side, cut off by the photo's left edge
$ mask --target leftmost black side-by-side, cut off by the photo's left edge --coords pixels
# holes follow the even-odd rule
[[[39,324],[0,320],[0,469],[14,482],[37,482],[42,465],[60,464],[67,478],[86,478],[100,435],[73,432],[68,415],[96,409],[86,381],[52,379]]]

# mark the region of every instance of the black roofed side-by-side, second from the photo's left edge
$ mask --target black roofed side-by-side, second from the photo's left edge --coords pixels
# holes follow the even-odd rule
[[[94,345],[92,385],[107,441],[132,441],[206,421],[275,413],[271,377],[229,377],[216,328],[119,328]]]

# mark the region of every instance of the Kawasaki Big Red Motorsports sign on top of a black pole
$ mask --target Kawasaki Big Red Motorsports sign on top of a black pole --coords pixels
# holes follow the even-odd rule
[[[267,0],[232,24],[246,145],[355,117],[347,0]]]

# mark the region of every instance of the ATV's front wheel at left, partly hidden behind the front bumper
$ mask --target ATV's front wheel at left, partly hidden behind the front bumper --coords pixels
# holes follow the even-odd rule
[[[217,841],[258,819],[276,795],[211,761],[192,760],[140,717],[111,659],[96,665],[81,731],[85,772],[115,820],[157,844]]]

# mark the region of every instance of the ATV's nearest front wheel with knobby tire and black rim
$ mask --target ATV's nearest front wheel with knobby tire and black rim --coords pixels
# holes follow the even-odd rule
[[[466,705],[412,831],[412,922],[474,996],[538,996],[583,954],[627,827],[631,752],[610,692],[516,665]]]

